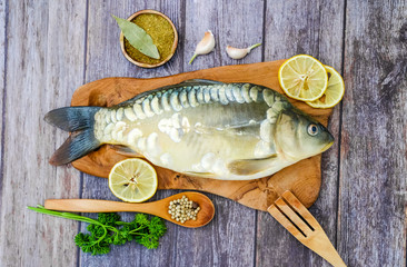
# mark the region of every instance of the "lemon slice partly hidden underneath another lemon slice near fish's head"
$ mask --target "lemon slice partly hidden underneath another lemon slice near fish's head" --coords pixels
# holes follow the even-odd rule
[[[332,67],[325,66],[328,72],[328,88],[319,99],[307,102],[312,108],[331,108],[344,97],[345,82],[343,77]]]

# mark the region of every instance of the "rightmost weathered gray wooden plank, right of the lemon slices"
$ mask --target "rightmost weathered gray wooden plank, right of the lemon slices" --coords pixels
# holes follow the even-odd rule
[[[406,266],[406,1],[347,2],[338,244],[349,266]]]

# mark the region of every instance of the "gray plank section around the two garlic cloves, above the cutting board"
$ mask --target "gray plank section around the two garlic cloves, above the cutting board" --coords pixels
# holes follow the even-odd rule
[[[226,46],[246,48],[262,42],[262,1],[187,1],[186,12],[185,71],[261,61],[264,47],[252,50],[244,59],[235,60],[226,53]],[[207,30],[215,36],[215,50],[198,56],[192,65],[188,65]]]

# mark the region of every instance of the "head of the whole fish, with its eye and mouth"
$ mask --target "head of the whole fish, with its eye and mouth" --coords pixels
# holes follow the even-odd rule
[[[296,160],[324,152],[334,144],[328,129],[300,110],[281,111],[275,135],[280,151]]]

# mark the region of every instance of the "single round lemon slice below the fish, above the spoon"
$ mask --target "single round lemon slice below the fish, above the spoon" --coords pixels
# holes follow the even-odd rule
[[[109,174],[111,192],[127,202],[142,202],[157,191],[157,172],[142,159],[125,159],[113,166]]]

